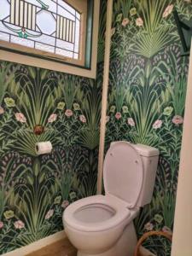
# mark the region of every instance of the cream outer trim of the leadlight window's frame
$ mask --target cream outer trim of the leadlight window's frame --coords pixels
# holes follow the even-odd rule
[[[77,0],[67,0],[68,3],[77,3]],[[10,43],[0,41],[0,60],[12,61],[32,67],[41,67],[63,73],[71,73],[91,79],[96,78],[96,59],[97,59],[97,41],[98,41],[98,24],[99,24],[100,0],[94,0],[93,26],[92,26],[92,45],[90,54],[90,67],[74,66],[73,62],[66,59],[66,62],[53,60],[44,60],[40,57],[24,55],[21,52],[10,51],[5,49]],[[20,46],[22,47],[22,46]],[[71,62],[71,63],[70,63]]]

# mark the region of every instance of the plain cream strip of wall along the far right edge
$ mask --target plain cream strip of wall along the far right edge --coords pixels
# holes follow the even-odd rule
[[[172,256],[191,255],[192,252],[192,173],[191,173],[191,152],[192,152],[192,49],[190,53],[188,90],[186,97],[183,141],[181,150],[181,161],[178,175],[177,202],[175,210],[174,233],[172,241]],[[183,237],[184,234],[184,237]],[[184,238],[184,239],[183,239]]]

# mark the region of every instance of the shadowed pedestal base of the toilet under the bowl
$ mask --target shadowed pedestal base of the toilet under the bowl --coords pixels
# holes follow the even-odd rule
[[[136,230],[133,222],[131,221],[131,223],[125,227],[125,230],[117,243],[107,252],[90,254],[79,251],[77,256],[133,256],[136,245]]]

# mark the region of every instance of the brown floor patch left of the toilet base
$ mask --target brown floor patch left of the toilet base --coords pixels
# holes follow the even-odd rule
[[[71,242],[65,238],[26,256],[77,256],[77,251]]]

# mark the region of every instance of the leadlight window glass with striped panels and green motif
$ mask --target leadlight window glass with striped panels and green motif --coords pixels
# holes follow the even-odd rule
[[[0,40],[79,60],[81,14],[63,0],[0,0]]]

